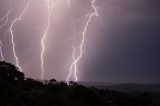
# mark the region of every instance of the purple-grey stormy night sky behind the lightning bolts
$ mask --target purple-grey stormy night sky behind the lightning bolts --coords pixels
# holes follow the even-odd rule
[[[72,45],[78,45],[92,11],[91,0],[55,1],[45,40],[45,79],[65,80]],[[0,18],[9,10],[8,24],[0,29],[5,61],[14,63],[11,22],[27,0],[0,0]],[[160,83],[160,1],[97,0],[99,17],[89,24],[84,54],[78,63],[79,81]],[[0,25],[3,21],[0,21]],[[27,77],[40,79],[41,38],[47,23],[44,0],[34,0],[22,21],[14,26],[16,52]]]

